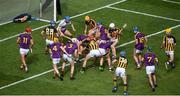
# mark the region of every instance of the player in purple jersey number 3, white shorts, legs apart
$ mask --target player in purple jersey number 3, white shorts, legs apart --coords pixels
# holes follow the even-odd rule
[[[67,54],[63,54],[61,77],[64,77],[65,64],[68,62],[71,65],[70,80],[74,80],[74,60],[77,58],[78,55],[78,45],[76,43],[68,41],[68,43],[64,46],[64,49],[66,50]]]

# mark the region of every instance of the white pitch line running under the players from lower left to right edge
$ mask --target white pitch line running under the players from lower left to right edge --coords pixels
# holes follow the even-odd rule
[[[171,29],[175,29],[175,28],[178,28],[178,27],[180,27],[180,25],[173,26],[173,27],[171,27]],[[147,35],[146,37],[149,38],[149,37],[158,35],[158,34],[160,34],[160,33],[163,33],[164,31],[165,31],[165,30],[162,30],[162,31],[159,31],[159,32],[155,32],[155,33],[153,33],[153,34]],[[123,43],[123,44],[117,46],[116,48],[129,45],[129,44],[131,44],[131,43],[133,43],[133,42],[135,42],[135,41],[132,40],[132,41]],[[84,58],[83,58],[83,59],[84,59]],[[83,59],[81,59],[80,61],[82,61]],[[67,64],[66,66],[69,66],[69,65],[70,65],[70,64]],[[59,67],[59,68],[61,68],[61,67]],[[52,71],[53,71],[53,69],[48,70],[48,71],[45,71],[45,72],[42,72],[42,73],[40,73],[40,74],[31,76],[31,77],[28,77],[28,78],[26,78],[26,79],[22,79],[22,80],[16,81],[16,82],[14,82],[14,83],[11,83],[11,84],[2,86],[2,87],[0,87],[0,90],[2,90],[2,89],[4,89],[4,88],[8,88],[8,87],[10,87],[10,86],[14,86],[14,85],[19,84],[19,83],[21,83],[21,82],[25,82],[25,81],[27,81],[27,80],[31,80],[31,79],[36,78],[36,77],[42,76],[42,75],[47,74],[47,73],[52,72]]]

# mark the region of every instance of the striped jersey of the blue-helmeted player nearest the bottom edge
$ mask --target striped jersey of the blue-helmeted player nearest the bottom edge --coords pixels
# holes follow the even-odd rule
[[[120,67],[120,68],[127,68],[127,59],[124,57],[119,57],[119,60],[117,61],[117,66],[116,67]]]

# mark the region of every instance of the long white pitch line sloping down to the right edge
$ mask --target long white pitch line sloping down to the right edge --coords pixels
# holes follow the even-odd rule
[[[161,18],[161,19],[165,19],[165,20],[171,20],[171,21],[180,22],[179,19],[168,18],[168,17],[158,16],[158,15],[152,15],[152,14],[133,11],[133,10],[127,10],[127,9],[116,8],[116,7],[111,7],[111,6],[108,6],[107,8],[114,9],[114,10],[119,10],[119,11],[124,11],[124,12],[128,12],[128,13],[135,13],[135,14],[140,14],[140,15],[145,15],[145,16],[156,17],[156,18]]]

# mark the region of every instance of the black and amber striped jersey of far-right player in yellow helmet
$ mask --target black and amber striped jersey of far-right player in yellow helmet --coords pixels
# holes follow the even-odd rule
[[[166,35],[164,36],[163,44],[166,51],[174,51],[174,46],[176,45],[176,39],[172,35]]]

